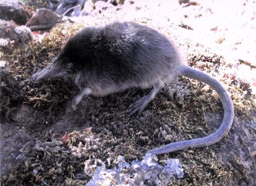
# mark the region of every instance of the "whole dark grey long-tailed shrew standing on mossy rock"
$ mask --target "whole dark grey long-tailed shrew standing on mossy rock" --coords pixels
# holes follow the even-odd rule
[[[65,44],[52,65],[32,76],[32,81],[69,76],[80,92],[72,108],[88,95],[104,96],[131,87],[153,87],[149,94],[130,105],[130,114],[140,114],[163,88],[182,75],[210,85],[220,95],[224,108],[221,126],[206,137],[184,140],[150,150],[162,154],[189,147],[206,147],[225,137],[232,126],[231,98],[215,78],[182,63],[173,44],[158,31],[133,22],[114,22],[99,28],[83,28]]]

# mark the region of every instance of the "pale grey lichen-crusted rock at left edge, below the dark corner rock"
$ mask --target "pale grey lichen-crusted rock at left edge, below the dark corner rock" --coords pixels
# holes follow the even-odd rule
[[[18,46],[33,39],[30,28],[6,20],[0,20],[0,38],[14,41]]]

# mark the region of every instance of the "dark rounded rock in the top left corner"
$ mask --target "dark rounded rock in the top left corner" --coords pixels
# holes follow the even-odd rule
[[[0,0],[0,18],[13,20],[18,25],[25,25],[30,18],[27,7],[17,0]]]

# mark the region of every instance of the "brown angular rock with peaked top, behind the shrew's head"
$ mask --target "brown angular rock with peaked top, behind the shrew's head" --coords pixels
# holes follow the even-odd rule
[[[27,22],[32,31],[53,28],[59,22],[61,16],[48,9],[38,9],[36,14]]]

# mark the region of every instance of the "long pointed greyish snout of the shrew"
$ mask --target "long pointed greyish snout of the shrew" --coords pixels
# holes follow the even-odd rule
[[[64,74],[66,70],[62,68],[60,65],[53,63],[49,65],[48,67],[44,68],[43,70],[39,71],[38,73],[35,73],[35,75],[32,76],[32,81],[34,83],[37,83],[43,79],[51,79],[54,77],[58,77],[62,74]]]

